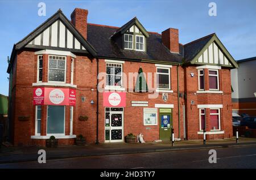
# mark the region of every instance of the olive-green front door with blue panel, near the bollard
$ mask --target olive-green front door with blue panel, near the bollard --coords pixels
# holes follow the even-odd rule
[[[159,112],[160,139],[163,141],[171,140],[171,109],[160,109]]]

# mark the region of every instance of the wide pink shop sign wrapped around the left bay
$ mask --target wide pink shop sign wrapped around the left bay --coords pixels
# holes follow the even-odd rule
[[[76,105],[75,89],[36,87],[33,97],[33,105]]]

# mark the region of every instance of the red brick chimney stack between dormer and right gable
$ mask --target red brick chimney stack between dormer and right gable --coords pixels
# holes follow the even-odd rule
[[[163,31],[162,42],[172,53],[179,53],[179,29],[168,28]]]

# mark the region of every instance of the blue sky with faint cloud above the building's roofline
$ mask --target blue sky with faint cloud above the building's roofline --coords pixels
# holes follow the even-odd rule
[[[46,16],[38,16],[38,3]],[[209,16],[215,2],[217,16]],[[70,19],[75,7],[88,9],[88,22],[120,27],[137,16],[147,31],[178,28],[181,44],[215,32],[234,59],[256,56],[256,1],[3,1],[0,0],[0,94],[8,95],[7,56],[13,44],[27,36],[59,8]]]

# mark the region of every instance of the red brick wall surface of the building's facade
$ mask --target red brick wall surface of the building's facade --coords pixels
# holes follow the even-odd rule
[[[44,75],[43,82],[47,82],[48,55],[43,55]],[[67,83],[71,82],[70,71],[71,57],[67,57]],[[143,72],[156,72],[155,64],[125,62],[123,64],[123,72],[138,72],[142,67]],[[36,82],[37,76],[37,55],[34,52],[24,51],[17,55],[16,78],[13,89],[13,110],[14,113],[14,145],[44,145],[45,140],[31,139],[31,135],[35,135],[35,106],[32,105],[32,83]],[[198,77],[196,67],[178,67],[179,69],[179,89],[180,93],[186,93],[186,98],[180,98],[180,138],[184,138],[183,132],[183,113],[186,115],[186,132],[188,139],[201,139],[201,135],[197,135],[199,131],[199,109],[197,104],[223,104],[221,109],[221,130],[225,130],[225,134],[208,135],[208,139],[213,138],[229,138],[232,136],[232,103],[231,103],[231,85],[230,71],[222,68],[220,70],[220,90],[222,94],[195,94],[198,89]],[[106,62],[104,59],[99,61],[99,72],[106,71]],[[191,77],[191,72],[195,76]],[[207,72],[206,72],[207,74]],[[77,55],[74,59],[74,84],[77,85],[76,107],[73,114],[73,134],[82,134],[88,143],[96,142],[96,84],[97,84],[97,63],[96,59]],[[133,84],[135,84],[134,78]],[[153,76],[154,82],[154,76]],[[154,84],[151,82],[152,84]],[[150,82],[147,82],[150,84]],[[127,88],[127,85],[125,85]],[[208,80],[205,79],[205,87],[208,88]],[[178,104],[177,104],[177,66],[171,68],[171,89],[173,93],[168,93],[168,100],[162,100],[162,93],[154,99],[148,99],[148,93],[126,93],[126,108],[124,109],[124,135],[129,133],[139,134],[142,132],[146,141],[159,139],[159,112],[157,126],[143,125],[143,108],[155,108],[155,104],[174,104],[172,111],[173,126],[175,129],[175,138],[179,137],[178,122]],[[82,102],[82,97],[85,101]],[[183,96],[184,97],[184,96]],[[94,104],[90,104],[93,100]],[[195,101],[191,105],[191,100]],[[148,101],[148,107],[131,106],[131,101]],[[185,106],[186,112],[183,112],[182,106]],[[207,119],[209,119],[209,109],[207,111]],[[47,106],[42,106],[41,135],[46,135]],[[65,116],[65,135],[69,135],[69,106],[66,107]],[[79,121],[80,115],[87,115],[87,121]],[[29,116],[28,121],[19,121],[19,116]],[[209,123],[209,122],[208,122]],[[99,140],[104,142],[105,138],[105,108],[103,106],[103,94],[99,93]],[[59,144],[72,144],[73,139],[60,139]]]

